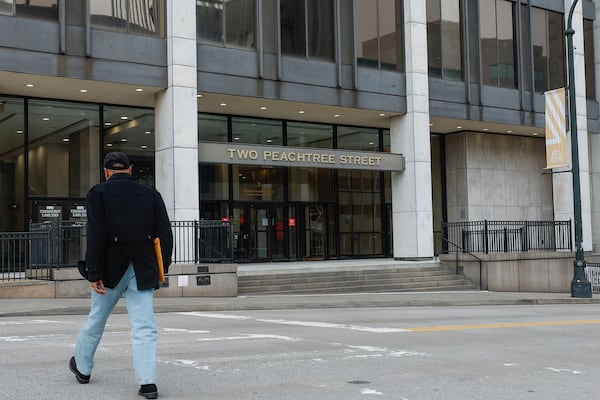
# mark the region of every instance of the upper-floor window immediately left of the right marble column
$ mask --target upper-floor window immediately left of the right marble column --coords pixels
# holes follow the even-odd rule
[[[356,0],[354,23],[358,65],[404,70],[402,5],[401,0]]]

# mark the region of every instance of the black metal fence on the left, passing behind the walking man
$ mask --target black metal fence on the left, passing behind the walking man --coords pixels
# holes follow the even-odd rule
[[[229,221],[173,221],[174,263],[233,262]],[[31,224],[29,232],[0,232],[0,281],[49,279],[52,268],[85,258],[84,221]]]

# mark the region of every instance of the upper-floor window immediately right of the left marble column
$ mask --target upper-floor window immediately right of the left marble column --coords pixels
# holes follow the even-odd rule
[[[197,1],[196,26],[202,42],[255,49],[255,0]]]

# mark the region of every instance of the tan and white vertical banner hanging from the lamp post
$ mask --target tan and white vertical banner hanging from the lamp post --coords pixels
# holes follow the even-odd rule
[[[568,166],[565,88],[549,90],[546,98],[546,168]],[[576,134],[576,133],[575,133]]]

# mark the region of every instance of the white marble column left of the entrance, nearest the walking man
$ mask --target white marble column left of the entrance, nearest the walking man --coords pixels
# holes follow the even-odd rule
[[[171,220],[199,218],[196,2],[166,2],[168,87],[157,94],[156,187]]]

